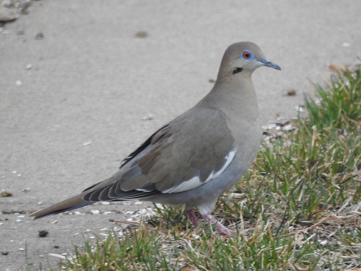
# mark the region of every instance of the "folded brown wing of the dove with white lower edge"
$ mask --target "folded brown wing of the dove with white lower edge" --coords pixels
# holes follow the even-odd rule
[[[187,111],[125,158],[116,174],[84,190],[82,198],[119,201],[193,189],[223,172],[234,158],[233,144],[221,111]]]

